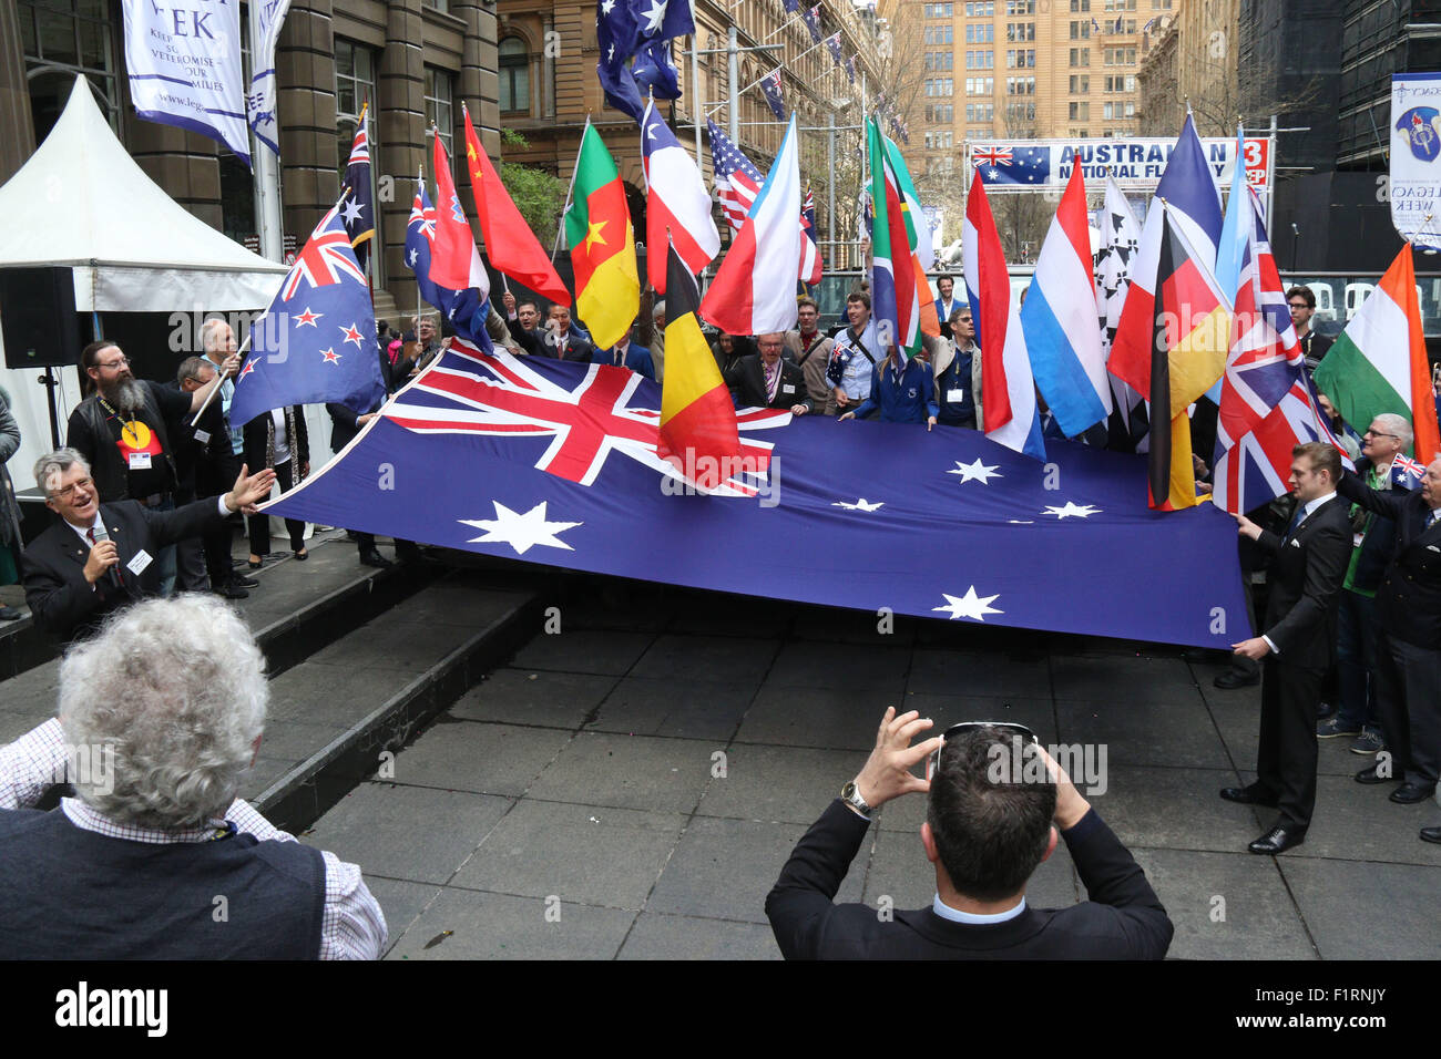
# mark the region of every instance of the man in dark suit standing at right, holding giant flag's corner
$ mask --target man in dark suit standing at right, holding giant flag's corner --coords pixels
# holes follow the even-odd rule
[[[1350,560],[1349,509],[1336,499],[1342,457],[1319,441],[1291,450],[1295,514],[1282,536],[1238,514],[1241,535],[1272,556],[1265,633],[1232,644],[1261,661],[1257,781],[1221,791],[1226,801],[1280,810],[1246,849],[1282,853],[1306,840],[1316,808],[1316,703],[1336,653],[1336,611]]]

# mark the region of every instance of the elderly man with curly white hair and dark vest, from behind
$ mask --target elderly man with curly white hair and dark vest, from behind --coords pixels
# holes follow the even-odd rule
[[[370,960],[360,869],[236,798],[269,689],[203,595],[117,614],[61,663],[59,718],[0,748],[0,952],[78,960]],[[68,778],[79,797],[30,808]]]

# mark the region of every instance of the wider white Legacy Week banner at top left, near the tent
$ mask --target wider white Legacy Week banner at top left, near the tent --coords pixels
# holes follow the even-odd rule
[[[208,135],[249,166],[241,6],[226,0],[124,0],[122,6],[135,114]]]

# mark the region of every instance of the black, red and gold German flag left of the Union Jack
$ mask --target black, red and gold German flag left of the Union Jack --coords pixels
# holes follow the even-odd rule
[[[1156,341],[1151,346],[1150,504],[1161,511],[1195,507],[1190,416],[1186,409],[1226,369],[1231,305],[1216,278],[1172,223],[1161,219],[1156,268]],[[1170,429],[1161,424],[1170,424]]]

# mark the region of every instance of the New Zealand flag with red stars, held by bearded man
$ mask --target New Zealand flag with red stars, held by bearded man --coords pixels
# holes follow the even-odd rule
[[[367,412],[385,396],[370,291],[340,206],[320,219],[265,316],[251,324],[231,403],[236,425],[285,405]]]

